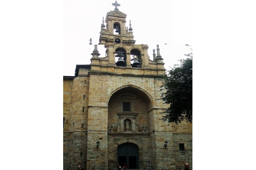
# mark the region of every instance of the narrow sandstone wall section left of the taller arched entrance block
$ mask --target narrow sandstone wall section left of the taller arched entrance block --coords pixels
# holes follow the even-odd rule
[[[88,80],[89,77],[76,77],[63,81],[64,170],[77,170],[78,162],[86,167]]]

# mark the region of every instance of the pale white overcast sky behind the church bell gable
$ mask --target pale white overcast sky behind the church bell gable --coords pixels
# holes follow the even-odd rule
[[[74,76],[76,65],[90,64],[94,45],[99,43],[102,17],[113,11],[115,0],[64,0],[64,76]],[[153,59],[157,44],[168,70],[178,59],[185,59],[192,46],[191,0],[117,0],[119,11],[127,14],[126,27],[133,28],[135,44],[147,44]],[[106,25],[106,23],[105,23]],[[89,45],[92,39],[93,45]],[[105,57],[104,45],[98,45],[99,57]]]

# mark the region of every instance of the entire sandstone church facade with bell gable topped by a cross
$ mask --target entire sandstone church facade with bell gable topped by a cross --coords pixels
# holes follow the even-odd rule
[[[159,45],[149,59],[148,45],[135,44],[131,22],[126,27],[126,14],[112,5],[99,37],[105,57],[94,45],[91,64],[63,77],[63,169],[192,167],[192,124],[160,120],[168,105],[159,100],[166,71]]]

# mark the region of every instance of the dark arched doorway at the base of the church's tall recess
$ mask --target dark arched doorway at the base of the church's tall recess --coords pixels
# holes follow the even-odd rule
[[[117,148],[117,161],[121,166],[126,163],[129,169],[139,169],[139,147],[132,143],[120,144]]]

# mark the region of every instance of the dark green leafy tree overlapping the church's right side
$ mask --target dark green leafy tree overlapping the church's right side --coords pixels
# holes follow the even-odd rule
[[[167,71],[160,87],[161,99],[170,105],[162,112],[165,116],[161,120],[176,125],[184,119],[192,123],[192,48],[191,53],[184,55],[188,58],[180,59],[179,65]]]

